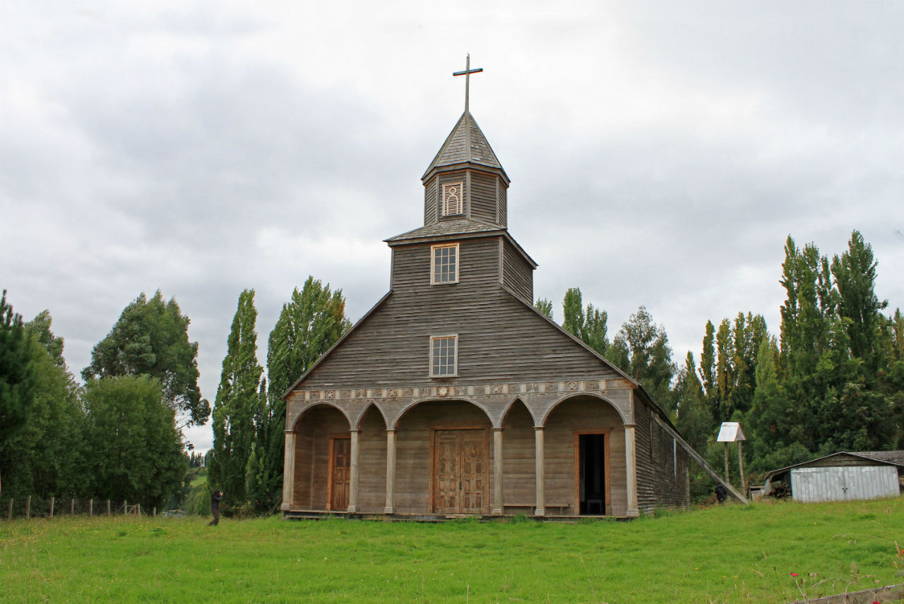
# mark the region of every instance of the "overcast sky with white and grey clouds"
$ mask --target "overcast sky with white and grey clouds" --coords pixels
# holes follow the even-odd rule
[[[707,320],[778,329],[786,237],[852,229],[904,306],[904,2],[0,3],[0,287],[73,373],[139,293],[175,297],[213,401],[257,291],[259,358],[308,274],[360,318],[381,241],[464,106],[510,178],[536,297],[641,304],[676,362]],[[209,424],[189,431],[207,449]]]

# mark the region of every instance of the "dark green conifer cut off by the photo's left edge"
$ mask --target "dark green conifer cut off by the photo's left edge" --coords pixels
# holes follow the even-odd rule
[[[32,410],[34,367],[22,316],[0,299],[0,490],[10,455],[10,440],[22,429]]]

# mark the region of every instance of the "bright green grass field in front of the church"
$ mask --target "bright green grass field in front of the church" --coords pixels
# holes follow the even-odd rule
[[[901,497],[573,525],[19,520],[0,601],[788,602],[904,582],[895,541]]]

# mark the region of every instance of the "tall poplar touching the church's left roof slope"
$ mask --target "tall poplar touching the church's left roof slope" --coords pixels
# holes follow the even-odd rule
[[[261,404],[255,422],[259,470],[251,495],[258,509],[273,506],[282,492],[286,402],[281,396],[351,327],[342,290],[331,292],[329,283],[314,277],[283,304],[268,339],[267,404]]]

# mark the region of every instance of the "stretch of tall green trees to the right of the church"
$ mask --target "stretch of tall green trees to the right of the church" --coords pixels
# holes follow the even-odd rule
[[[584,307],[578,288],[565,294],[562,327],[636,379],[714,466],[720,423],[740,422],[744,464],[756,479],[837,451],[904,447],[904,317],[882,312],[876,266],[858,231],[831,259],[788,237],[778,332],[750,311],[718,326],[707,321],[699,362],[689,352],[676,363],[643,306],[610,342],[606,311]],[[551,317],[550,301],[536,307]],[[702,494],[707,481],[696,478]]]

